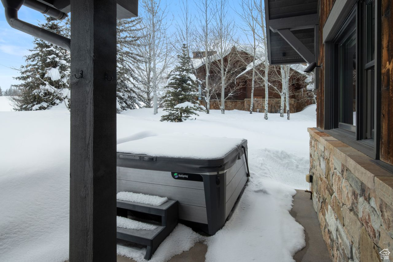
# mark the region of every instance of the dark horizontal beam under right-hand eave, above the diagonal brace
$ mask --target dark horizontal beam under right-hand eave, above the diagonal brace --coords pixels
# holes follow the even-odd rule
[[[273,32],[280,29],[299,30],[314,28],[318,24],[318,14],[312,15],[299,15],[296,17],[286,17],[279,19],[270,19],[269,27]]]

